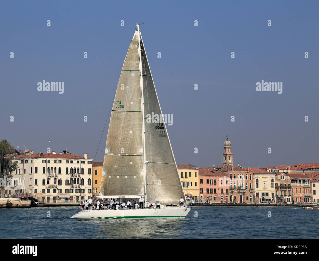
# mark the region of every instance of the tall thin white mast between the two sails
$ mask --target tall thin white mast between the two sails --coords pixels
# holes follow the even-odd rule
[[[140,68],[140,84],[141,84],[141,103],[142,103],[142,140],[143,140],[143,174],[144,174],[144,194],[145,194],[145,204],[147,202],[147,185],[146,185],[146,151],[145,151],[145,115],[144,115],[144,90],[143,90],[143,77],[142,77],[142,55],[141,55],[141,32],[139,30],[139,24],[137,27],[137,40],[138,40],[138,60]]]

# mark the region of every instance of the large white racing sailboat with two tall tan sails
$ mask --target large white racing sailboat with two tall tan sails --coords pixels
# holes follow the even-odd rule
[[[154,116],[155,115],[155,116]],[[139,24],[116,88],[103,162],[100,198],[156,202],[160,207],[84,210],[81,220],[185,218],[186,202]]]

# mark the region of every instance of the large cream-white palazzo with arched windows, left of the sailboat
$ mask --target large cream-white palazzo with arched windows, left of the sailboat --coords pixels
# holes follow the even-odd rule
[[[38,196],[44,203],[75,202],[92,196],[92,159],[72,154],[35,153],[26,150],[12,160],[18,164],[13,174],[14,182],[5,187],[5,194],[28,193]],[[25,180],[24,186],[19,184]]]

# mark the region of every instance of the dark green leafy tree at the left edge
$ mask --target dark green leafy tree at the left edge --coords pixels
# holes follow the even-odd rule
[[[12,178],[12,172],[18,168],[16,162],[12,163],[12,159],[16,156],[14,147],[10,145],[6,139],[0,142],[0,189],[1,198],[4,198],[4,187],[6,180]]]

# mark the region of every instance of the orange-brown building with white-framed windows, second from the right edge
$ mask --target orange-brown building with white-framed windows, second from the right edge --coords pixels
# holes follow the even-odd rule
[[[293,203],[308,203],[311,197],[310,179],[303,174],[289,174]]]

